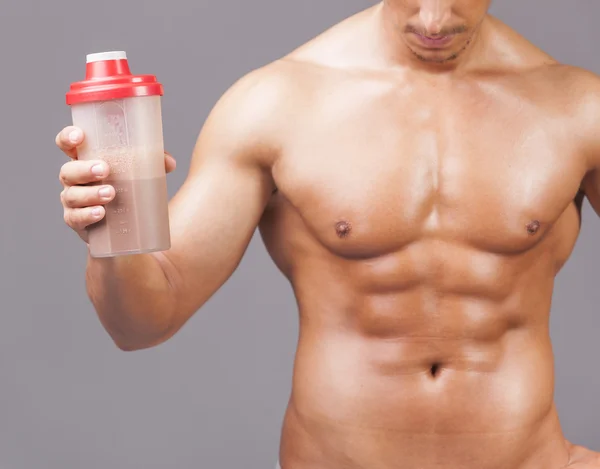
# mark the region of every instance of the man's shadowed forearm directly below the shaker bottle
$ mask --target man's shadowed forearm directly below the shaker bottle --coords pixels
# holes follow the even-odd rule
[[[176,302],[165,262],[162,253],[88,256],[88,296],[119,348],[148,348],[172,335]]]

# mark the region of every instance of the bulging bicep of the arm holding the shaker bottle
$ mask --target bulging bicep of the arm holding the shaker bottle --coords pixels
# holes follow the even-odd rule
[[[207,159],[169,204],[171,249],[164,253],[177,314],[197,311],[231,276],[252,239],[271,189],[258,167]],[[178,321],[179,322],[179,321]]]

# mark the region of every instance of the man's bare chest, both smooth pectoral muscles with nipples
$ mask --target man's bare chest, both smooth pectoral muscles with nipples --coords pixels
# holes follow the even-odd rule
[[[576,146],[535,107],[386,96],[323,102],[274,170],[281,196],[332,251],[372,257],[429,238],[518,253],[572,206]]]

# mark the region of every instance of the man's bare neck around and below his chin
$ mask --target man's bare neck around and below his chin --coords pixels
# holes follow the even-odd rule
[[[448,56],[456,57],[443,62],[420,58],[407,44],[403,28],[394,21],[394,12],[387,2],[381,2],[374,9],[374,19],[385,51],[386,58],[397,67],[408,67],[428,74],[462,73],[477,67],[483,61],[485,44],[488,42],[490,21],[484,19],[471,31],[469,43],[460,51],[450,50]]]

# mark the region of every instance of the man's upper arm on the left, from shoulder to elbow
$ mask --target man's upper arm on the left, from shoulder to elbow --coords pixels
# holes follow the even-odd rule
[[[251,72],[219,100],[170,201],[172,247],[159,256],[177,304],[175,330],[238,266],[273,192],[276,93],[267,78]]]

